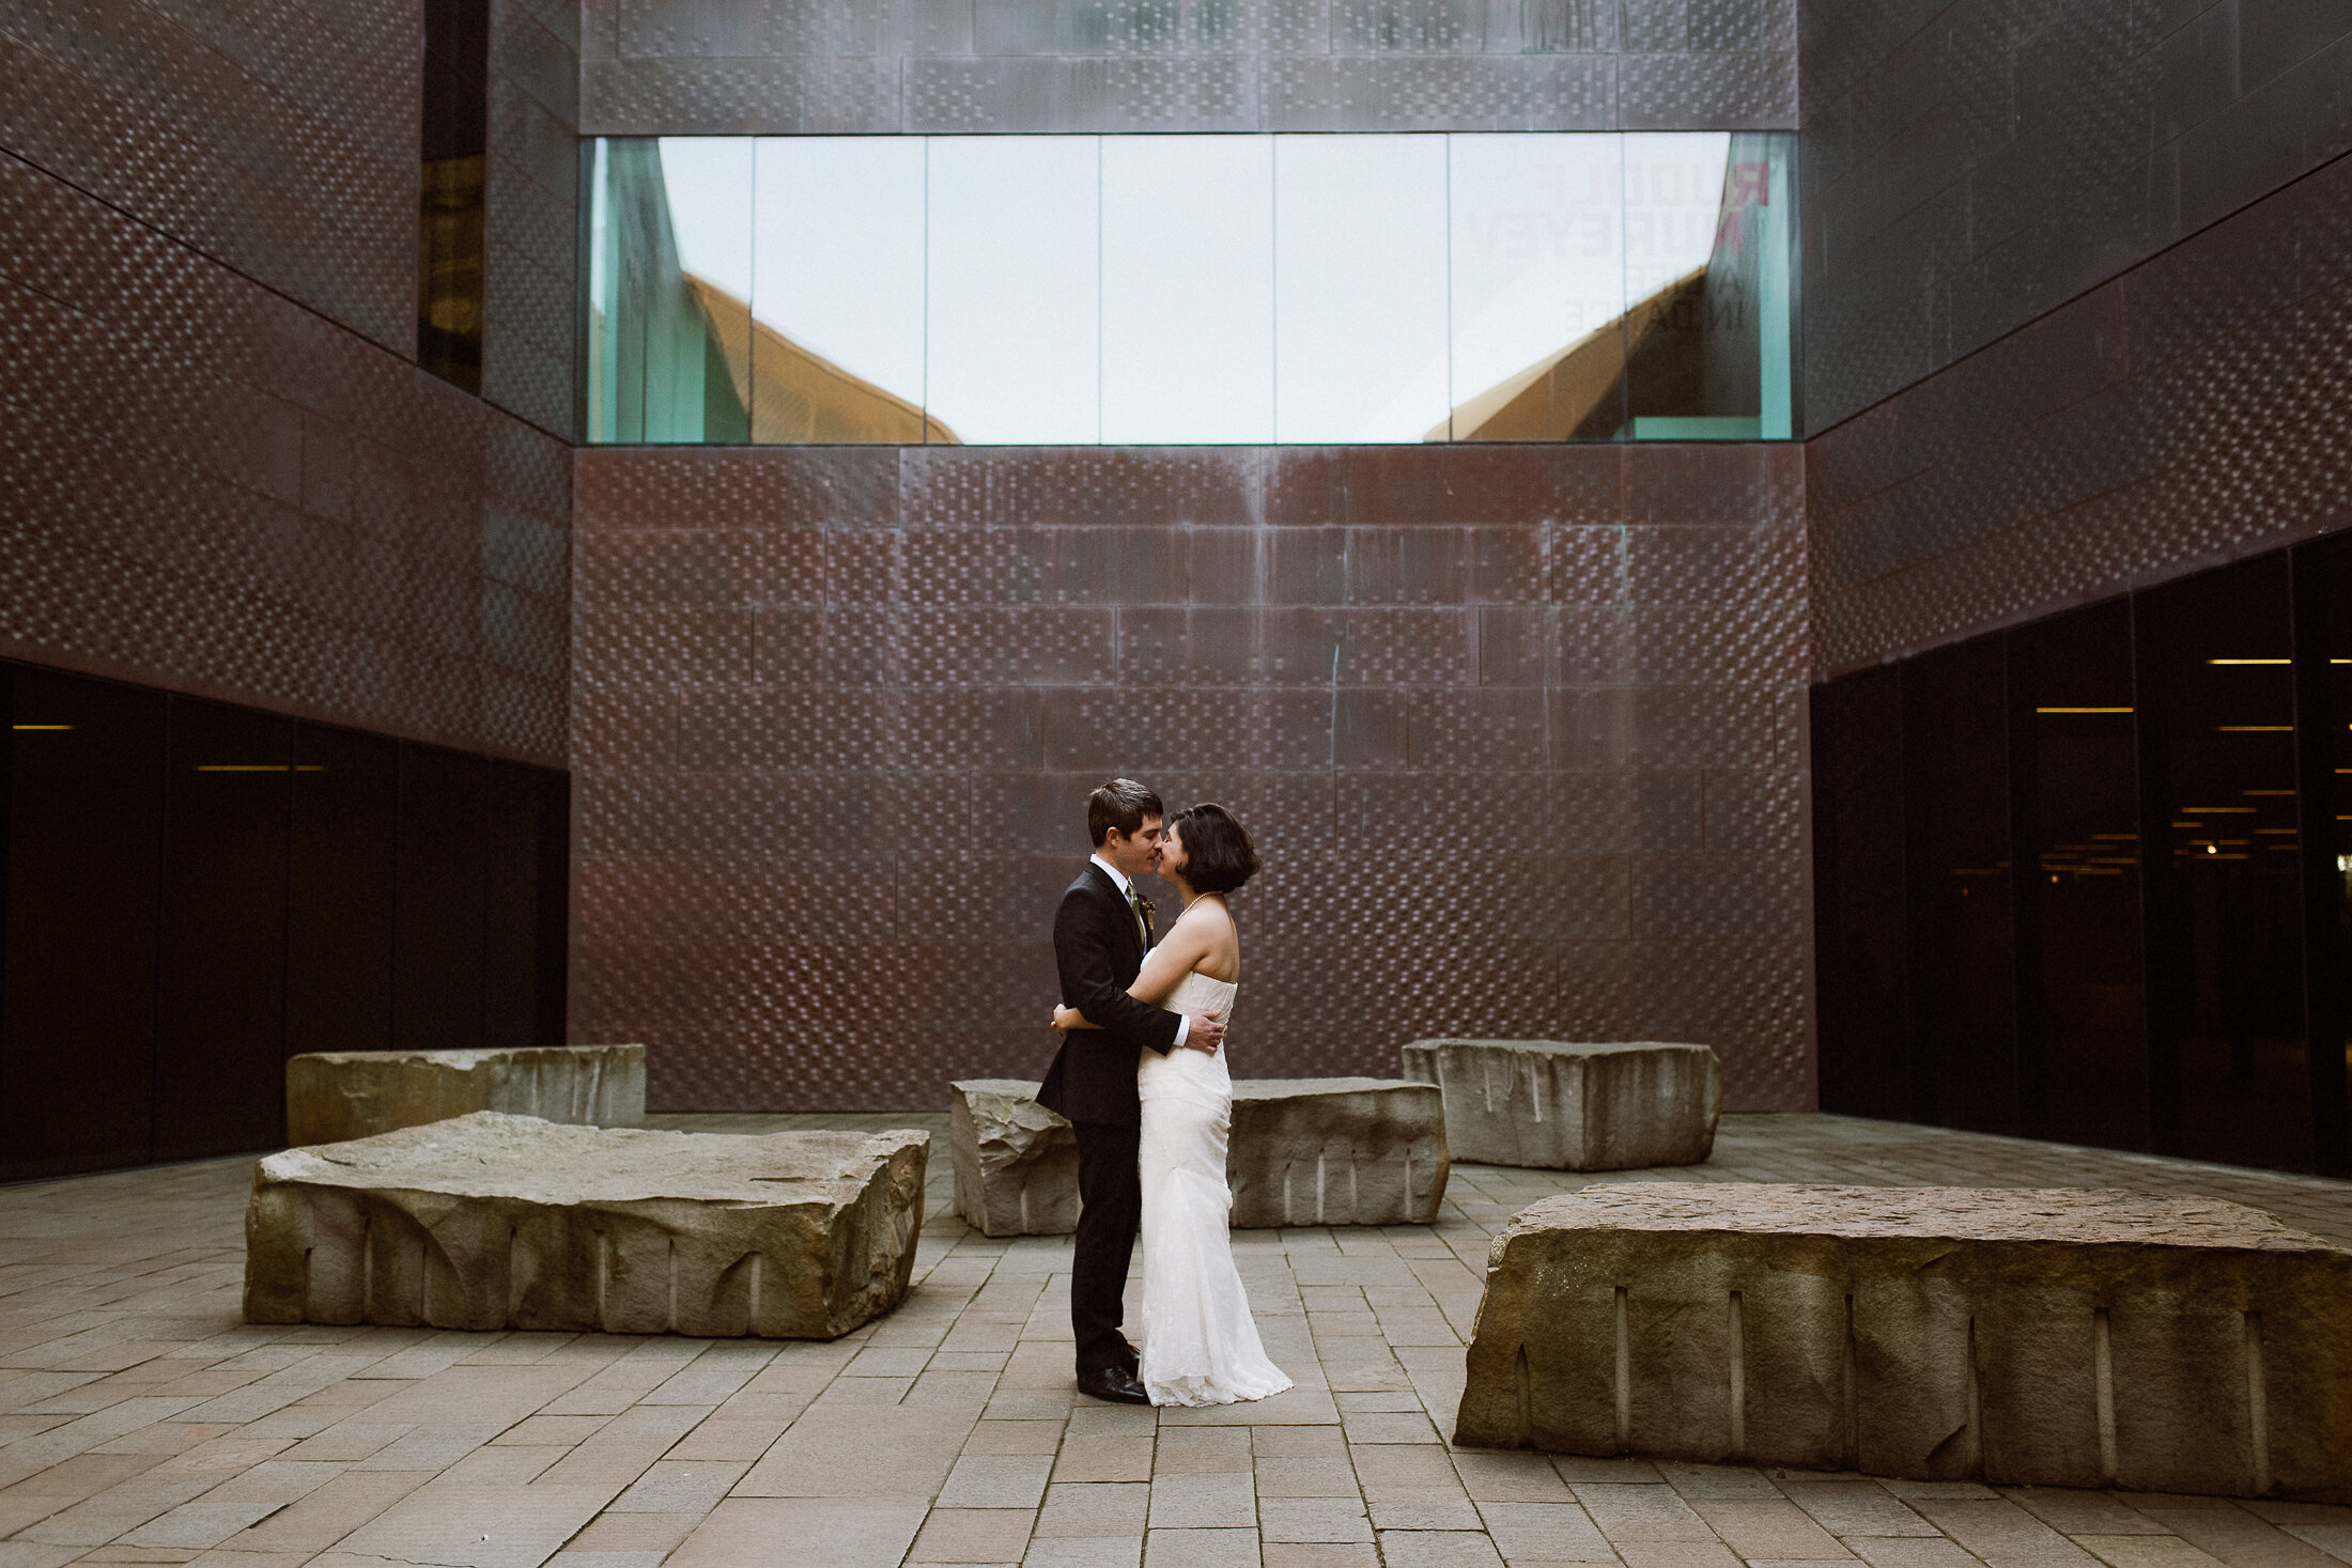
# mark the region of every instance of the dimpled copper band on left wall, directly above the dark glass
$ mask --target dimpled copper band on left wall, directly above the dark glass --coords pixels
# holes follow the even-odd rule
[[[12,656],[564,759],[560,442],[14,158],[0,289]]]

